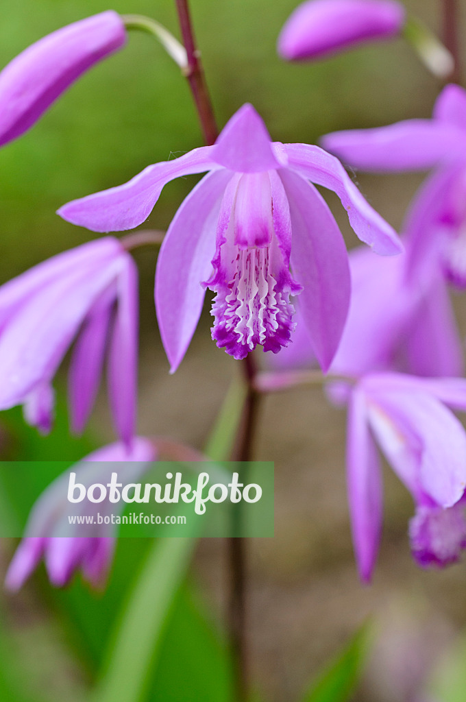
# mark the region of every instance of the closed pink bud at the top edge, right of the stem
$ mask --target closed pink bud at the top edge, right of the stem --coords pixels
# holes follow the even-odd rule
[[[394,0],[307,0],[281,30],[279,54],[288,60],[332,55],[401,32],[404,6]]]

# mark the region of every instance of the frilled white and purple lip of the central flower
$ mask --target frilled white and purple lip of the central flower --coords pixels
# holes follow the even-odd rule
[[[274,230],[268,173],[239,173],[232,188],[225,193],[229,218],[221,231],[220,214],[215,274],[207,285],[217,293],[212,338],[243,359],[257,345],[274,353],[288,345],[295,326],[289,298],[299,288]]]

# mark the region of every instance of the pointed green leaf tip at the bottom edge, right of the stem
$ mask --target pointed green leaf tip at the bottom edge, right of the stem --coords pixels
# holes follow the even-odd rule
[[[326,665],[302,702],[346,702],[351,699],[369,648],[368,626],[363,625],[337,658]]]

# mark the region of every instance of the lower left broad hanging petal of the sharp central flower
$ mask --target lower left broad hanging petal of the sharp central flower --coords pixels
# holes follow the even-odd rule
[[[232,178],[212,173],[190,192],[161,246],[155,275],[155,307],[162,343],[173,373],[184,357],[201,315],[201,285],[212,270],[220,202]]]

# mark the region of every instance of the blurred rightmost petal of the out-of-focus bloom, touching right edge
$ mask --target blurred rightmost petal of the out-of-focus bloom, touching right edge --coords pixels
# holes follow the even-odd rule
[[[420,303],[406,334],[408,368],[418,376],[461,376],[462,340],[443,279]]]

